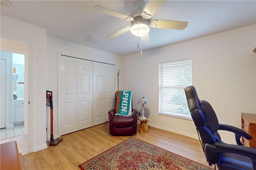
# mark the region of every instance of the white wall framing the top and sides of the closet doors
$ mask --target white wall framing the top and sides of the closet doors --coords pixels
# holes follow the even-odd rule
[[[100,44],[99,44],[100,45]],[[47,36],[46,38],[46,89],[53,92],[53,114],[55,119],[55,135],[58,136],[58,54],[68,55],[81,59],[98,61],[102,63],[114,64],[116,70],[116,90],[117,72],[120,69],[120,56]],[[49,115],[49,108],[46,109]],[[49,119],[47,117],[47,119]],[[49,120],[47,121],[49,122]],[[48,123],[50,129],[50,123]],[[47,138],[50,138],[48,133]]]

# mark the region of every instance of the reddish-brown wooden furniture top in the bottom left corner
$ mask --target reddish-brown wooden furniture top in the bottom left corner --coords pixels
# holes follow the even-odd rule
[[[22,162],[16,141],[2,143],[0,145],[0,169],[22,170]]]

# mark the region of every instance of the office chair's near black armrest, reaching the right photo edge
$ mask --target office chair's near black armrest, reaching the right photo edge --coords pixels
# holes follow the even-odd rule
[[[215,142],[214,144],[205,143],[205,149],[210,152],[227,152],[236,153],[244,156],[248,156],[253,160],[256,159],[256,149],[250,147],[244,147],[239,145],[232,145],[222,142]]]

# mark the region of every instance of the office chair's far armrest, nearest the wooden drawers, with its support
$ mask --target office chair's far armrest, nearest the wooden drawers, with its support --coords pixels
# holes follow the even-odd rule
[[[251,135],[249,135],[248,133],[246,133],[242,129],[239,129],[239,128],[234,127],[234,126],[219,124],[219,130],[233,132],[235,134],[235,137],[236,137],[236,144],[237,145],[242,145],[242,143],[240,141],[241,136],[244,137],[245,139],[248,139],[248,140],[252,139]]]

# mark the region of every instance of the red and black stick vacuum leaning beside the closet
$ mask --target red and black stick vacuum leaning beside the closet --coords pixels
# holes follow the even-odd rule
[[[50,137],[50,143],[49,145],[50,146],[56,146],[58,145],[58,143],[60,143],[62,141],[62,138],[59,137],[57,139],[53,139],[53,123],[52,123],[52,120],[53,120],[53,106],[52,106],[52,91],[46,91],[46,101],[49,102],[50,104],[50,110],[51,110],[51,116],[50,116],[50,119],[51,119],[51,137]]]

